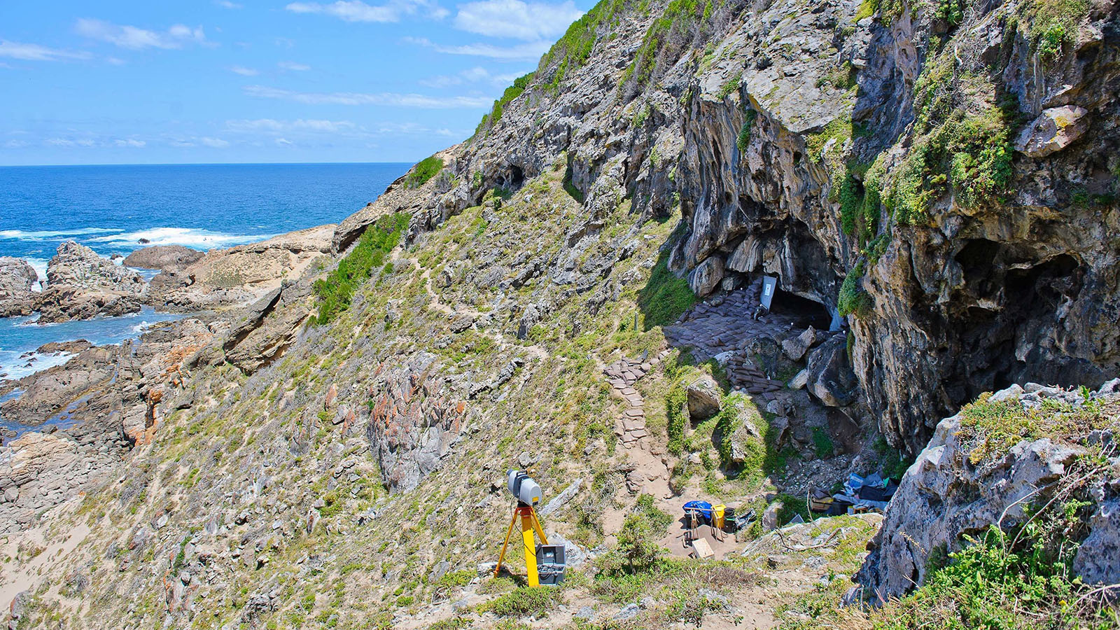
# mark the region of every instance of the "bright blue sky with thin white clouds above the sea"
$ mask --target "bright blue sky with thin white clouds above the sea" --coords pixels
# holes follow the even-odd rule
[[[0,165],[416,161],[590,0],[0,0]]]

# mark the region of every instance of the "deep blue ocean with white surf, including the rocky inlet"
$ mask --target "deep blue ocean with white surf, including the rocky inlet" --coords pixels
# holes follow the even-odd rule
[[[237,164],[0,167],[0,256],[24,258],[46,279],[58,244],[102,256],[152,244],[207,250],[336,223],[374,201],[409,164]],[[0,379],[62,363],[52,341],[96,345],[139,336],[174,318],[146,308],[125,317],[38,325],[0,318]],[[7,376],[3,376],[7,374]]]

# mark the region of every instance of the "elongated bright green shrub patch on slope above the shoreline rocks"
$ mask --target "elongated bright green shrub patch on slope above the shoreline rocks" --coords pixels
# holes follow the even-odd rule
[[[365,229],[353,251],[338,261],[338,267],[326,278],[315,281],[319,309],[316,322],[326,324],[349,307],[354,291],[370,278],[373,269],[384,265],[385,256],[396,247],[408,226],[409,214],[398,212],[382,216]]]

